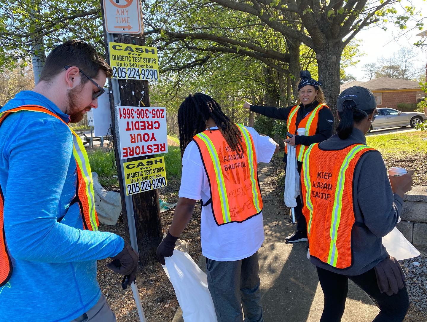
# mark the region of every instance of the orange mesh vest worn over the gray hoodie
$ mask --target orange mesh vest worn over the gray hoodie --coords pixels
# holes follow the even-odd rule
[[[302,213],[307,220],[310,256],[337,269],[352,265],[351,231],[354,225],[363,225],[354,218],[354,169],[370,151],[376,150],[363,144],[325,151],[315,143],[304,154]]]

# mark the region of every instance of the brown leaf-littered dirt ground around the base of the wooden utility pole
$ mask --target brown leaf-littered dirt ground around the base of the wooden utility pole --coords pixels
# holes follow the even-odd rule
[[[178,190],[181,178],[169,177],[168,185],[159,189],[159,197],[167,202],[178,201]],[[173,219],[173,210],[161,214],[164,232],[169,228]],[[200,203],[196,204],[193,217],[187,228],[180,236],[190,247],[189,254],[197,262],[202,253],[200,245]],[[124,236],[123,218],[115,226],[100,225],[99,230],[110,231]],[[139,321],[135,300],[130,287],[123,290],[121,281],[123,276],[115,274],[106,267],[109,260],[98,262],[98,282],[102,293],[105,294],[108,304],[116,315],[118,322]],[[144,314],[147,322],[170,322],[178,308],[175,291],[167,279],[160,264],[140,269],[137,276],[138,292],[140,293]]]

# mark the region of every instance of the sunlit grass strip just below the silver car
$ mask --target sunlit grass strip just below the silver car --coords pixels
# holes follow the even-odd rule
[[[381,153],[424,152],[427,153],[427,132],[404,132],[384,135],[369,135],[366,143]]]

